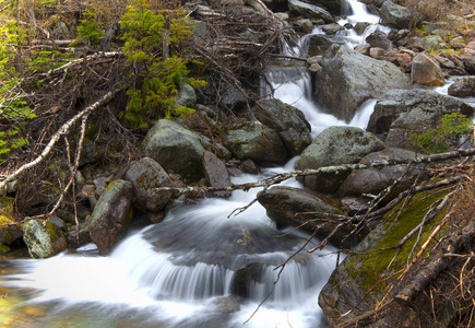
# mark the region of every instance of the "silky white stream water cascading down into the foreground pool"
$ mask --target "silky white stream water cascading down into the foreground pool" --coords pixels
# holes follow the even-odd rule
[[[348,22],[377,23],[359,2],[349,4],[354,14]],[[348,43],[355,43],[354,35]],[[313,137],[326,127],[347,125],[312,103],[305,68],[280,65],[269,71],[269,80],[275,97],[305,113]],[[365,103],[349,125],[366,128],[373,104]],[[259,176],[235,177],[234,183],[292,171],[295,161]],[[295,180],[285,185],[299,187]],[[259,203],[229,216],[258,191],[235,191],[229,199],[204,199],[198,204],[176,202],[162,223],[130,233],[107,257],[86,245],[45,260],[1,262],[0,296],[8,295],[0,298],[0,323],[7,327],[240,327],[247,321],[245,327],[325,327],[318,293],[335,268],[335,249],[326,246],[311,255],[304,250],[282,272],[276,270],[309,236],[277,230]],[[310,242],[306,249],[316,244]],[[229,295],[237,295],[238,309]]]

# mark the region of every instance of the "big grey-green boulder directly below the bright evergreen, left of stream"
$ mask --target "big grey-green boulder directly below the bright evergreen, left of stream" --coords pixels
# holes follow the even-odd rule
[[[158,120],[146,133],[143,151],[167,172],[190,178],[203,177],[201,138],[177,122]]]

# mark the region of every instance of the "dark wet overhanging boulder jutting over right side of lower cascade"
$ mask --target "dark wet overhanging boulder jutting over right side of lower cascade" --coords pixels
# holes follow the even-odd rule
[[[336,201],[319,192],[298,188],[272,187],[260,192],[258,201],[277,226],[290,225],[308,232],[317,229],[317,235],[322,238],[329,236],[341,222],[336,215],[343,214]],[[340,245],[348,232],[342,229],[330,241]]]

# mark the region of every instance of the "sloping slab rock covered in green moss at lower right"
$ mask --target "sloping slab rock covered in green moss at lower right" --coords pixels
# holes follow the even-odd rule
[[[389,212],[378,227],[353,249],[352,255],[348,255],[332,273],[319,296],[319,305],[330,323],[334,323],[349,311],[347,319],[360,312],[371,311],[382,301],[389,284],[395,282],[405,268],[417,234],[401,248],[388,248],[396,246],[424,220],[430,206],[448,192],[447,189],[439,189],[417,194],[403,208],[400,204]],[[424,226],[415,249],[427,241],[443,214],[444,211],[440,211]],[[443,235],[444,232],[440,234]]]

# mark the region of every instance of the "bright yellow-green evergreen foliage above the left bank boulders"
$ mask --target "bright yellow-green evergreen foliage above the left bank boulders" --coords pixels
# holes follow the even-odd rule
[[[138,83],[129,91],[130,102],[121,113],[130,128],[146,128],[151,119],[188,115],[191,108],[176,106],[177,85],[204,82],[187,78],[188,60],[179,51],[168,57],[165,46],[178,46],[191,37],[192,25],[183,10],[153,9],[144,0],[128,7],[120,21],[123,52]]]

